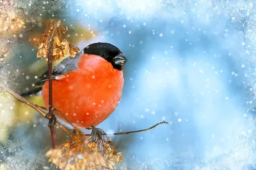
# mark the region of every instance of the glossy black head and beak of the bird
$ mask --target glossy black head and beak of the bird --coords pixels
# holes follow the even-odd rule
[[[126,57],[123,53],[114,45],[109,43],[93,43],[84,48],[84,53],[99,55],[103,59],[108,60],[115,69],[122,70]]]

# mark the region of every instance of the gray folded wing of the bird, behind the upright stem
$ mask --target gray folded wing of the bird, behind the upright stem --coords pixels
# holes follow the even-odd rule
[[[83,55],[83,50],[77,53],[75,57],[67,57],[66,59],[62,60],[60,64],[52,67],[52,79],[58,80],[58,78],[63,76],[63,74],[78,69],[77,62],[81,55]],[[36,81],[35,85],[44,85],[44,82],[47,81],[48,78],[48,71],[45,71],[45,73],[38,78],[38,81]]]

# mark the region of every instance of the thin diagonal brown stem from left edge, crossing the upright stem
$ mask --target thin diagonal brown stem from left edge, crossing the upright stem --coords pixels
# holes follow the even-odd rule
[[[46,113],[44,111],[42,111],[42,108],[38,107],[36,104],[33,104],[31,102],[29,102],[28,100],[26,100],[24,97],[20,96],[19,94],[13,92],[13,90],[9,89],[8,87],[4,86],[2,83],[0,83],[0,87],[2,87],[4,90],[6,90],[7,92],[9,92],[13,97],[15,97],[18,101],[28,104],[28,106],[30,106],[31,108],[33,108],[34,110],[36,110],[38,113],[40,113],[43,117],[46,117]],[[71,138],[73,137],[72,132],[68,131],[68,129],[66,129],[65,127],[63,127],[63,125],[61,125],[59,122],[56,122],[56,125],[58,127],[60,127],[60,129],[64,132],[66,132],[68,134],[68,136],[70,136]]]

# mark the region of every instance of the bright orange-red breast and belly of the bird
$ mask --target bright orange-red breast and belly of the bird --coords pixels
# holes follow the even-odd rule
[[[78,127],[96,126],[116,109],[124,86],[123,72],[97,55],[81,56],[78,69],[52,81],[54,115]],[[45,107],[49,103],[49,81],[42,89]],[[67,120],[65,120],[65,118]]]

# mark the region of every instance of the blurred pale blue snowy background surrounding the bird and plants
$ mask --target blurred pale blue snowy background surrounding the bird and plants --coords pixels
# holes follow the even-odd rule
[[[102,41],[127,56],[122,101],[98,127],[111,134],[163,120],[169,125],[110,135],[124,155],[116,169],[256,169],[255,1],[20,0],[3,6],[26,25],[0,34],[0,45],[10,49],[8,55],[2,50],[1,82],[16,92],[33,87],[47,69],[36,59],[47,18],[67,25],[69,41],[80,49]],[[40,96],[28,99],[43,105]],[[54,169],[44,156],[51,148],[47,121],[3,90],[0,130],[0,169]],[[58,145],[67,140],[58,129],[56,135]]]

